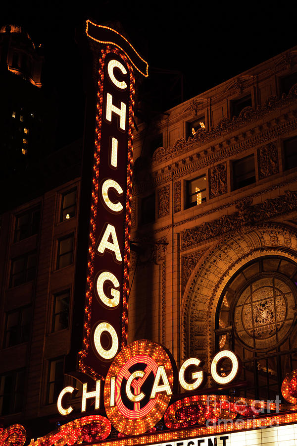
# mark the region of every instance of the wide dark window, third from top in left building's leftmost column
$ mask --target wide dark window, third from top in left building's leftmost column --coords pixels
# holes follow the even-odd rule
[[[31,307],[6,313],[4,348],[27,342],[31,327]]]

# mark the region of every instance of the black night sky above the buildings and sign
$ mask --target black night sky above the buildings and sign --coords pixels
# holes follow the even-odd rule
[[[119,20],[131,43],[153,68],[184,76],[184,100],[297,45],[296,11],[288,3],[83,0],[11,1],[2,24],[23,24],[32,40],[43,43],[44,85],[54,86],[60,111],[71,111],[65,132],[79,128],[83,116],[82,58],[75,29],[87,18],[98,23]],[[1,8],[2,9],[2,8]],[[160,84],[174,75],[162,74]],[[157,80],[158,81],[158,80]],[[177,103],[180,101],[177,101]],[[164,110],[175,104],[162,105]],[[77,132],[79,130],[76,130]]]

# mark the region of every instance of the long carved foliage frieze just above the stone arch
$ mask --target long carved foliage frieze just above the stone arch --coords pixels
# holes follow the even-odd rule
[[[223,215],[217,220],[202,223],[200,226],[185,229],[182,232],[182,249],[189,248],[202,241],[218,237],[227,232],[240,229],[245,225],[265,222],[283,214],[297,210],[297,191],[286,191],[274,199],[250,206],[238,206],[239,211],[232,215]]]

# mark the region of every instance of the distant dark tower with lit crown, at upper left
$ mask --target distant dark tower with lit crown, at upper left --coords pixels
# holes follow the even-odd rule
[[[0,28],[1,177],[53,149],[53,102],[42,89],[43,47],[22,26]]]

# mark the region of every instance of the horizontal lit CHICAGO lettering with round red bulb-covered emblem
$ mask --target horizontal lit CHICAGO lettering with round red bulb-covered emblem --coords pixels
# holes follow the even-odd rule
[[[226,360],[229,361],[230,369],[227,375],[220,373],[220,364]],[[182,364],[178,372],[178,383],[182,389],[193,391],[203,384],[204,373],[199,368],[200,362],[198,358],[189,358]],[[96,382],[96,389],[91,391],[87,391],[87,383],[83,384],[81,410],[82,412],[86,411],[87,400],[90,398],[95,398],[95,409],[100,409],[100,394],[103,391],[106,415],[119,432],[125,435],[148,432],[163,417],[170,404],[171,396],[177,387],[177,380],[174,377],[175,370],[174,359],[160,344],[147,339],[135,341],[124,347],[113,360],[104,382],[104,389],[102,389],[103,382],[100,380]],[[210,370],[211,377],[217,384],[228,385],[238,376],[241,370],[241,361],[232,351],[222,350],[212,359]],[[73,391],[74,388],[68,386],[60,392],[57,408],[61,415],[68,415],[72,412],[73,408],[71,405],[66,405],[64,395],[72,394]],[[188,398],[189,401],[185,402],[183,410],[187,411],[187,406],[206,407],[207,405],[206,412],[209,412],[211,406],[213,416],[217,416],[216,402],[209,399],[209,396],[200,395],[198,398],[200,399]],[[222,396],[221,401],[223,399]],[[258,413],[252,405],[252,400],[248,400],[247,403],[249,411],[247,406],[242,408],[240,402],[231,401],[231,403],[234,416],[237,413],[245,415]],[[175,412],[181,409],[181,407],[175,407],[176,404],[170,406],[172,409],[169,410],[167,416],[169,428],[175,428]],[[240,405],[239,409],[236,404]],[[224,401],[223,405],[228,405],[227,401]],[[227,410],[226,413],[229,413],[230,416],[231,406],[227,409],[229,411]],[[198,416],[199,419],[199,414],[195,416]],[[192,417],[197,423],[198,419],[194,417],[194,413]],[[203,424],[207,416],[201,413],[200,418]],[[164,421],[166,423],[165,415]]]

